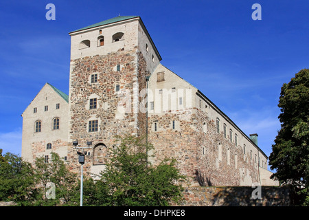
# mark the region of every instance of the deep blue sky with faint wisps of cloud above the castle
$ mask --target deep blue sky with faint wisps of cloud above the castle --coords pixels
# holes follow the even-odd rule
[[[56,20],[47,21],[47,3]],[[253,3],[262,20],[253,21]],[[0,2],[0,148],[21,154],[21,113],[50,83],[69,92],[69,32],[139,15],[161,63],[200,89],[266,155],[280,129],[280,89],[309,68],[309,1],[157,0]]]

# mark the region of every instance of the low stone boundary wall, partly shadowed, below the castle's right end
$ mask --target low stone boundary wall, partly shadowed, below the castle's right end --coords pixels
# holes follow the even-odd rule
[[[181,206],[290,206],[290,190],[287,187],[262,186],[261,196],[257,188],[239,187],[187,187]],[[253,192],[254,191],[254,192]]]

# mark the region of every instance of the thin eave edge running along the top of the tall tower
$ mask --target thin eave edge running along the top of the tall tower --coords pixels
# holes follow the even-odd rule
[[[124,19],[122,21],[114,21],[112,23],[107,23],[107,24],[104,24],[104,25],[98,25],[98,26],[95,26],[95,27],[90,27],[90,28],[86,28],[86,29],[82,29],[82,30],[75,30],[73,32],[69,32],[69,35],[71,36],[71,34],[77,34],[78,32],[87,32],[89,30],[95,30],[95,29],[100,29],[104,26],[113,26],[115,25],[115,23],[126,23],[126,22],[130,22],[130,21],[135,21],[135,20],[138,20],[139,23],[141,24],[141,28],[143,28],[144,32],[146,33],[146,35],[148,36],[148,39],[150,41],[150,44],[152,45],[152,47],[154,48],[155,50],[155,54],[158,56],[159,58],[159,61],[162,61],[162,57],[161,55],[159,54],[159,51],[155,45],[155,43],[152,41],[152,38],[144,24],[144,22],[141,20],[141,17],[137,16],[137,17],[133,17],[133,18],[129,18],[129,19]]]

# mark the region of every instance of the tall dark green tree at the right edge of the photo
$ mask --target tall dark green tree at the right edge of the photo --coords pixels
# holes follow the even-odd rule
[[[284,83],[279,97],[281,129],[269,157],[273,178],[284,181],[307,197],[309,188],[309,69]],[[309,202],[309,197],[308,197]]]

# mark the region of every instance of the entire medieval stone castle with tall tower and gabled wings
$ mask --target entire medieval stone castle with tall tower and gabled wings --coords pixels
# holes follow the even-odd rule
[[[69,96],[46,83],[23,112],[22,157],[55,152],[80,172],[106,166],[115,135],[146,136],[156,164],[174,157],[188,184],[273,185],[258,135],[247,136],[196,87],[161,65],[140,17],[119,16],[70,32]],[[152,152],[149,152],[152,154]]]

